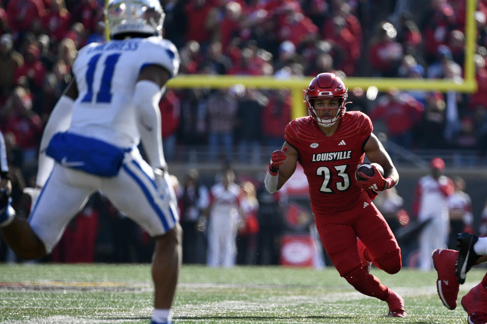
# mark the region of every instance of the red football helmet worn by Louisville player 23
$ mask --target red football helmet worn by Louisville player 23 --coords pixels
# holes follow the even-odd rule
[[[304,95],[304,99],[308,104],[308,114],[311,118],[315,119],[318,125],[322,127],[330,127],[336,123],[345,113],[345,105],[348,103],[346,98],[348,97],[347,89],[343,84],[343,81],[333,73],[320,73],[309,83],[308,89]],[[313,100],[316,99],[339,99],[340,105],[335,116],[331,119],[322,119],[317,110],[333,110],[329,108],[316,109],[313,106]]]

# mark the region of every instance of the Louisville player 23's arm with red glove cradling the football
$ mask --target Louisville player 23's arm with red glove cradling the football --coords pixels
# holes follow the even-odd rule
[[[364,152],[370,162],[377,163],[384,169],[384,176],[375,170],[376,172],[374,176],[372,176],[369,180],[357,181],[359,186],[368,188],[375,184],[378,190],[385,190],[393,187],[399,182],[399,173],[394,167],[391,157],[374,133],[370,134],[370,137],[365,143]]]

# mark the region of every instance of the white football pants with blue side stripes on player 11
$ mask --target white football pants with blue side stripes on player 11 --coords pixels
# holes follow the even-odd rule
[[[152,168],[137,149],[126,153],[118,175],[111,178],[56,163],[28,222],[50,253],[69,221],[85,206],[90,195],[99,190],[152,237],[162,235],[179,220],[176,195],[167,172],[164,181],[165,188],[158,190]]]

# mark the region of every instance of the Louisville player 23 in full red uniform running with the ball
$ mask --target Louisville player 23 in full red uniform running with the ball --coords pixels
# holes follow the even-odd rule
[[[340,276],[362,294],[386,301],[388,316],[405,317],[401,296],[368,273],[370,261],[391,274],[401,269],[396,238],[370,197],[377,193],[373,189],[394,186],[399,175],[372,133],[370,118],[359,111],[345,112],[347,90],[338,76],[318,74],[309,83],[305,99],[309,116],[286,126],[282,149],[271,155],[265,187],[271,193],[279,190],[299,162],[323,247]],[[373,167],[373,177],[355,179],[364,154],[384,168],[384,176]]]

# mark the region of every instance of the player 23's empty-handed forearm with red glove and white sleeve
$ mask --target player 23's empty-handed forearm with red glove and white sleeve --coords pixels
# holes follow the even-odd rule
[[[274,193],[281,189],[296,170],[298,151],[287,142],[281,150],[272,152],[269,170],[265,174],[264,184],[267,191]]]

